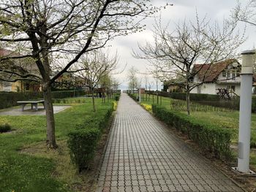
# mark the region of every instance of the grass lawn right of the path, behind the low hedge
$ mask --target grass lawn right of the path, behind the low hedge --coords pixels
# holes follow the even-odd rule
[[[146,101],[146,96],[142,94],[141,96],[141,103],[142,104],[152,104],[153,103],[153,96],[150,96],[150,100]],[[160,104],[160,96],[159,96],[159,104]],[[165,106],[170,109],[170,102],[175,102],[175,99],[170,99],[166,97],[162,97],[162,106]],[[182,102],[182,101],[178,101]],[[157,103],[157,96],[154,96],[154,103]],[[185,101],[184,101],[184,108],[185,108]],[[194,106],[195,108],[195,106]],[[204,120],[207,122],[211,123],[217,123],[223,128],[230,128],[233,131],[233,138],[232,138],[232,143],[233,145],[236,145],[238,142],[238,128],[239,128],[239,112],[238,111],[230,111],[230,110],[223,110],[223,109],[218,109],[217,107],[207,107],[206,108],[202,107],[202,110],[200,111],[198,106],[197,110],[198,111],[191,111],[191,115],[195,118],[200,118],[200,120]],[[184,111],[184,113],[187,113]],[[252,142],[256,143],[256,114],[252,113]],[[250,158],[250,165],[252,166],[252,169],[256,171],[256,150],[253,149],[251,153],[251,158]]]

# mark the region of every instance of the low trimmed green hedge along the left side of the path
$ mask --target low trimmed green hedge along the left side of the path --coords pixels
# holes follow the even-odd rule
[[[102,130],[108,126],[113,109],[97,112],[93,117],[86,119],[83,124],[75,126],[68,134],[68,147],[72,162],[78,166],[79,172],[88,169]]]

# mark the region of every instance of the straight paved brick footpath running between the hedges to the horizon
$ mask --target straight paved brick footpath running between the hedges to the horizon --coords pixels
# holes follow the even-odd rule
[[[96,191],[242,191],[121,94]]]

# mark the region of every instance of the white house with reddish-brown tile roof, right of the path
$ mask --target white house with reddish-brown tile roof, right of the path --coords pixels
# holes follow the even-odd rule
[[[198,85],[190,93],[217,94],[220,90],[233,90],[240,95],[241,64],[236,59],[227,59],[216,64],[195,64],[192,85]]]

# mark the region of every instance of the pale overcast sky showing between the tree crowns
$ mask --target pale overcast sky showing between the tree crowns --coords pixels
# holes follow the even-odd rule
[[[233,7],[236,7],[236,0],[153,0],[154,5],[161,6],[166,3],[173,4],[173,7],[167,7],[167,9],[162,9],[161,15],[163,23],[170,21],[170,30],[175,27],[174,23],[178,21],[190,20],[195,18],[195,11],[197,10],[199,17],[204,17],[207,15],[207,18],[211,20],[218,20],[220,23],[223,18],[230,17],[230,11]],[[246,2],[242,1],[243,4]],[[156,16],[158,16],[157,14]],[[121,83],[121,89],[127,89],[127,71],[131,66],[135,66],[141,73],[146,73],[148,68],[148,61],[132,57],[132,50],[138,50],[138,43],[143,44],[146,41],[152,40],[152,32],[154,25],[154,19],[148,18],[143,21],[146,24],[146,30],[136,34],[130,34],[127,37],[117,37],[110,42],[110,49],[114,52],[117,51],[119,56],[118,69],[127,64],[126,69],[122,74],[115,75],[118,82]],[[239,25],[241,31],[243,30],[244,24]],[[249,50],[255,47],[256,42],[256,27],[247,26],[246,27],[246,37],[248,38],[246,42],[241,45],[238,52],[242,50]],[[143,79],[143,75],[138,74],[138,77]],[[151,82],[154,82],[154,79],[151,78]],[[143,84],[143,82],[142,82]],[[154,82],[155,84],[155,82]],[[142,86],[145,86],[144,84]],[[154,85],[155,88],[155,85]]]

